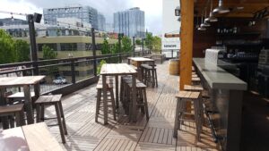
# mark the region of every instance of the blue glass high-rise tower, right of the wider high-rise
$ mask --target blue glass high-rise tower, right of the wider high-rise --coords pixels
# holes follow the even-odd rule
[[[114,13],[114,30],[128,37],[144,38],[144,12],[134,7]]]

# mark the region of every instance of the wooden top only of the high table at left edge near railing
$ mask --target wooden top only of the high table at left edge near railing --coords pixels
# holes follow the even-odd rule
[[[33,85],[44,78],[45,76],[3,77],[0,78],[0,87]]]

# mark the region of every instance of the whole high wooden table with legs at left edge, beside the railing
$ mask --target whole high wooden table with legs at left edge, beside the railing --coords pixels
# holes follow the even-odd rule
[[[25,111],[27,113],[27,123],[31,124],[34,122],[32,105],[31,105],[31,96],[30,96],[30,85],[34,85],[34,92],[37,98],[40,94],[39,81],[43,80],[45,76],[24,76],[24,77],[3,77],[0,78],[0,105],[4,105],[4,92],[6,88],[13,87],[23,87],[24,99],[25,99]],[[8,125],[3,124],[3,127],[6,128]]]

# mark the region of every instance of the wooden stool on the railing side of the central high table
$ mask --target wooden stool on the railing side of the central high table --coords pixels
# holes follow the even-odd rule
[[[112,113],[113,113],[113,116],[114,116],[114,120],[117,120],[116,119],[115,97],[114,97],[114,92],[113,92],[113,81],[108,80],[108,83],[107,83],[106,86],[107,86],[107,89],[108,89],[108,92],[109,92],[108,103],[111,103],[111,105],[108,105],[108,107],[112,107]],[[98,82],[98,84],[96,86],[96,89],[97,89],[97,101],[96,101],[95,122],[98,122],[98,117],[99,117],[99,114],[100,114],[100,105],[101,105],[101,103],[103,103],[103,100],[101,99],[102,98],[102,93],[103,93],[102,80],[99,80],[99,82]],[[109,98],[109,96],[110,96],[110,98]]]

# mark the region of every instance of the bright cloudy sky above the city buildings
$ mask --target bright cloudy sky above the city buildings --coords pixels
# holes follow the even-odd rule
[[[90,5],[103,13],[108,23],[113,23],[113,13],[140,7],[145,13],[145,28],[154,35],[161,34],[162,0],[0,0],[1,12],[43,13],[43,8],[63,7],[70,4]],[[11,14],[0,13],[0,18]],[[13,15],[24,19],[23,16]]]

